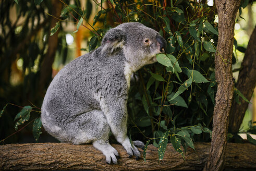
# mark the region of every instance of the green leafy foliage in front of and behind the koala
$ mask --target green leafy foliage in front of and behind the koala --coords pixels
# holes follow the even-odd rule
[[[30,13],[32,16],[26,19],[25,25],[22,25],[18,33],[11,28],[13,26],[5,23],[9,27],[9,32],[1,34],[1,39],[14,36],[14,39],[9,40],[19,40],[17,43],[10,43],[11,47],[17,50],[18,43],[40,26],[40,16],[45,20],[48,18],[44,11],[52,9],[50,1],[46,0],[34,1],[36,6],[31,2],[15,2],[19,8],[17,14],[22,16]],[[8,8],[15,2],[8,1]],[[46,40],[48,39],[46,32],[49,29],[51,29],[51,35],[60,30],[59,39],[65,39],[62,26],[66,21],[75,21],[77,29],[74,32],[77,32],[91,15],[90,1],[87,1],[85,10],[80,7],[79,1],[75,1],[75,4],[70,4],[69,1],[60,2],[64,7],[61,16],[55,16],[60,17],[56,26],[52,29],[45,27],[43,30]],[[106,3],[109,8],[103,8],[103,3]],[[141,22],[159,31],[167,40],[166,54],[157,55],[158,63],[143,67],[134,75],[135,79],[131,83],[129,92],[128,130],[133,139],[147,141],[143,151],[144,160],[149,143],[159,148],[159,160],[163,160],[167,143],[172,143],[174,149],[184,157],[188,146],[194,149],[193,141],[210,141],[214,95],[217,87],[214,75],[214,54],[218,38],[217,23],[214,22],[215,6],[208,6],[201,1],[182,0],[136,2],[113,0],[101,1],[97,6],[100,10],[94,16],[92,25],[89,23],[91,27],[88,28],[92,34],[89,51],[93,51],[100,45],[104,33],[114,27],[111,23]],[[7,21],[8,17],[8,15],[3,16]],[[31,21],[35,18],[38,19],[36,26],[28,27],[28,23],[34,24]],[[102,23],[101,28],[94,28],[97,22]],[[18,30],[18,26],[15,26],[15,29]],[[34,83],[38,79],[38,71],[47,47],[47,41],[39,39],[42,35],[33,34],[33,36],[32,42],[25,42],[23,51],[10,52],[10,48],[4,44],[1,50],[1,54],[10,57],[9,66],[1,65],[0,69],[3,71],[10,68],[11,63],[17,59],[16,56],[23,59],[23,72],[24,74],[26,72],[23,85],[27,87],[25,94],[35,87]],[[67,51],[67,48],[63,48],[62,45],[58,49],[59,52]],[[66,57],[63,56],[63,59]],[[4,58],[1,57],[0,61],[4,61]],[[1,64],[5,63],[1,62]],[[39,68],[33,70],[35,64]],[[0,79],[5,80],[3,76]],[[3,83],[6,84],[5,86],[8,85],[7,81]],[[238,90],[235,95],[243,98]],[[31,111],[33,111],[31,106],[22,108],[15,117],[15,120],[18,120],[15,128],[29,119]],[[2,114],[1,111],[0,116]],[[40,133],[41,121],[40,118],[36,118],[33,124],[33,135],[36,140]],[[181,146],[184,151],[181,150]]]

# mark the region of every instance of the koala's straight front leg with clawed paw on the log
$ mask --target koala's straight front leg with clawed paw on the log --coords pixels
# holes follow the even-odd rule
[[[104,100],[103,100],[104,101]],[[112,99],[107,103],[101,103],[101,107],[106,116],[107,123],[111,128],[116,140],[122,144],[127,151],[129,157],[136,156],[136,160],[140,157],[140,152],[136,146],[130,142],[127,136],[127,107],[125,99]],[[137,143],[140,142],[140,143]],[[143,148],[143,142],[136,141],[135,144],[139,144]]]

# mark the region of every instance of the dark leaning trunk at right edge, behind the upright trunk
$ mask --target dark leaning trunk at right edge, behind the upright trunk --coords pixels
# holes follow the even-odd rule
[[[242,69],[239,72],[236,88],[250,100],[256,86],[256,27],[251,34],[241,67]],[[248,102],[241,98],[239,99],[241,104],[239,105],[233,101],[230,113],[229,129],[233,133],[239,131],[242,119],[248,108]]]

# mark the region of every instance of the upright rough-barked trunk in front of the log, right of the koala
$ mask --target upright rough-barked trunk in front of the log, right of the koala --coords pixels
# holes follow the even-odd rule
[[[213,113],[212,144],[204,170],[223,170],[227,145],[228,117],[234,93],[232,52],[234,26],[241,1],[215,1],[218,13],[218,44],[215,53],[215,79],[218,83]]]

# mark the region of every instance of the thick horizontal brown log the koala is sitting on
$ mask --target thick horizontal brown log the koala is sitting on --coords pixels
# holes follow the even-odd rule
[[[202,169],[207,161],[210,143],[195,143],[184,161],[171,144],[167,145],[164,160],[158,161],[157,148],[149,145],[147,161],[129,158],[124,148],[113,144],[119,152],[118,164],[108,165],[104,155],[92,145],[69,143],[34,143],[0,145],[0,170],[195,170]],[[255,168],[256,146],[245,143],[227,145],[226,168]],[[142,150],[140,150],[142,154]]]

